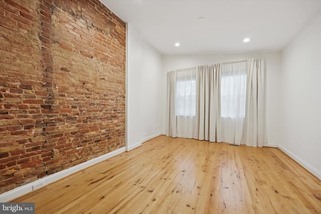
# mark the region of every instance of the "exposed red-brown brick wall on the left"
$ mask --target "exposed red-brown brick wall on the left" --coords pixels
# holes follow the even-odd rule
[[[98,0],[0,0],[0,193],[125,146],[125,23]]]

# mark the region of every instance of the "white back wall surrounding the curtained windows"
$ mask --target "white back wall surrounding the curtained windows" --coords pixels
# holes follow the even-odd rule
[[[277,146],[279,143],[279,77],[280,53],[245,53],[213,55],[171,55],[163,56],[163,93],[162,93],[162,133],[165,133],[166,122],[166,73],[171,70],[190,68],[198,65],[211,65],[220,62],[247,60],[253,57],[264,57],[266,61],[266,123],[268,143]]]

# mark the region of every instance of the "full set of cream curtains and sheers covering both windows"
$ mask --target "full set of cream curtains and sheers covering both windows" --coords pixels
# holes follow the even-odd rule
[[[167,136],[267,145],[263,59],[168,72],[166,117]]]

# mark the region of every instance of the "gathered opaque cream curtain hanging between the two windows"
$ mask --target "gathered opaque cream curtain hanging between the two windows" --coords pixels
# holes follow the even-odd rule
[[[221,142],[221,64],[197,67],[195,139]]]

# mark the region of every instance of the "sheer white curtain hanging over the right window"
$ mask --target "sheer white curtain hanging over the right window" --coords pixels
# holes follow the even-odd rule
[[[222,65],[221,125],[222,141],[240,145],[243,140],[247,62]]]

